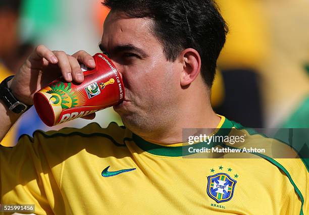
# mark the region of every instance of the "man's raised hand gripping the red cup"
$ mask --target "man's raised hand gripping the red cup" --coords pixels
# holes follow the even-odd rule
[[[81,83],[84,80],[79,63],[94,68],[94,59],[86,51],[67,55],[64,51],[51,51],[39,45],[32,52],[15,77],[8,83],[15,97],[33,104],[33,94],[50,82],[63,76],[67,82]]]

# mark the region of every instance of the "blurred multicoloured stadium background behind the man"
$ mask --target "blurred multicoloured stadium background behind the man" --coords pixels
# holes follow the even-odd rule
[[[218,61],[212,104],[218,114],[253,128],[309,128],[309,2],[217,0],[230,32]],[[0,79],[16,73],[37,44],[73,54],[99,52],[108,10],[100,0],[0,0]],[[113,109],[101,127],[122,124]],[[77,119],[46,127],[27,111],[1,144],[37,130],[81,128]]]

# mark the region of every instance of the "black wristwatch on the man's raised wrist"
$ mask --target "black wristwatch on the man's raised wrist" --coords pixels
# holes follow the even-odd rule
[[[31,108],[32,105],[26,105],[21,101],[18,101],[12,93],[12,90],[8,87],[8,82],[14,78],[14,75],[6,78],[0,84],[0,99],[3,100],[5,105],[10,111],[16,114],[22,114]]]

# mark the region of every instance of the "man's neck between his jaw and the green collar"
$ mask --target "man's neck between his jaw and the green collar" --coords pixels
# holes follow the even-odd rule
[[[194,81],[194,85],[183,89],[181,95],[177,105],[174,105],[177,106],[175,115],[165,121],[160,131],[137,134],[149,142],[172,144],[183,142],[185,128],[217,128],[221,118],[213,111],[209,90],[202,80]]]

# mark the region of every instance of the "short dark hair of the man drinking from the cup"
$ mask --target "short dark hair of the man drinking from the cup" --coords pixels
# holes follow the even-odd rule
[[[185,48],[196,49],[202,77],[212,86],[228,32],[213,0],[105,0],[102,5],[128,17],[153,20],[152,31],[162,42],[168,61],[174,62]]]

